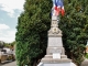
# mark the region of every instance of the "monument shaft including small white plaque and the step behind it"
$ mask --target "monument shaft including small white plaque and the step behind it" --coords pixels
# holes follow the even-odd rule
[[[47,35],[48,41],[47,41],[46,55],[42,61],[46,58],[53,59],[54,57],[58,59],[67,58],[63,47],[62,31],[58,29],[58,21],[59,21],[58,16],[52,15],[51,29]]]

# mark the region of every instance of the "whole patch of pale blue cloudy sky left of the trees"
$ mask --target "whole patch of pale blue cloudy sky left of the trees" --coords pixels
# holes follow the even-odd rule
[[[15,41],[18,16],[23,11],[25,0],[0,0],[0,41]]]

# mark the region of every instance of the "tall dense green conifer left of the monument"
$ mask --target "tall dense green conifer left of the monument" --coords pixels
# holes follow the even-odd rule
[[[50,29],[51,0],[26,0],[18,19],[16,61],[19,66],[36,66],[45,55]]]

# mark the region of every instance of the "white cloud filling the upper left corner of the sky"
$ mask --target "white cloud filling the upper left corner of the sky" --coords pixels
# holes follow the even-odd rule
[[[6,11],[11,18],[14,16],[14,10],[23,11],[25,0],[0,0],[0,9]]]

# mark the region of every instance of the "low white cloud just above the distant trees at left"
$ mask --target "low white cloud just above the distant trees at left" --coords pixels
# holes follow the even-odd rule
[[[0,24],[0,41],[11,43],[15,41],[15,30],[10,29],[10,26],[6,24]]]

